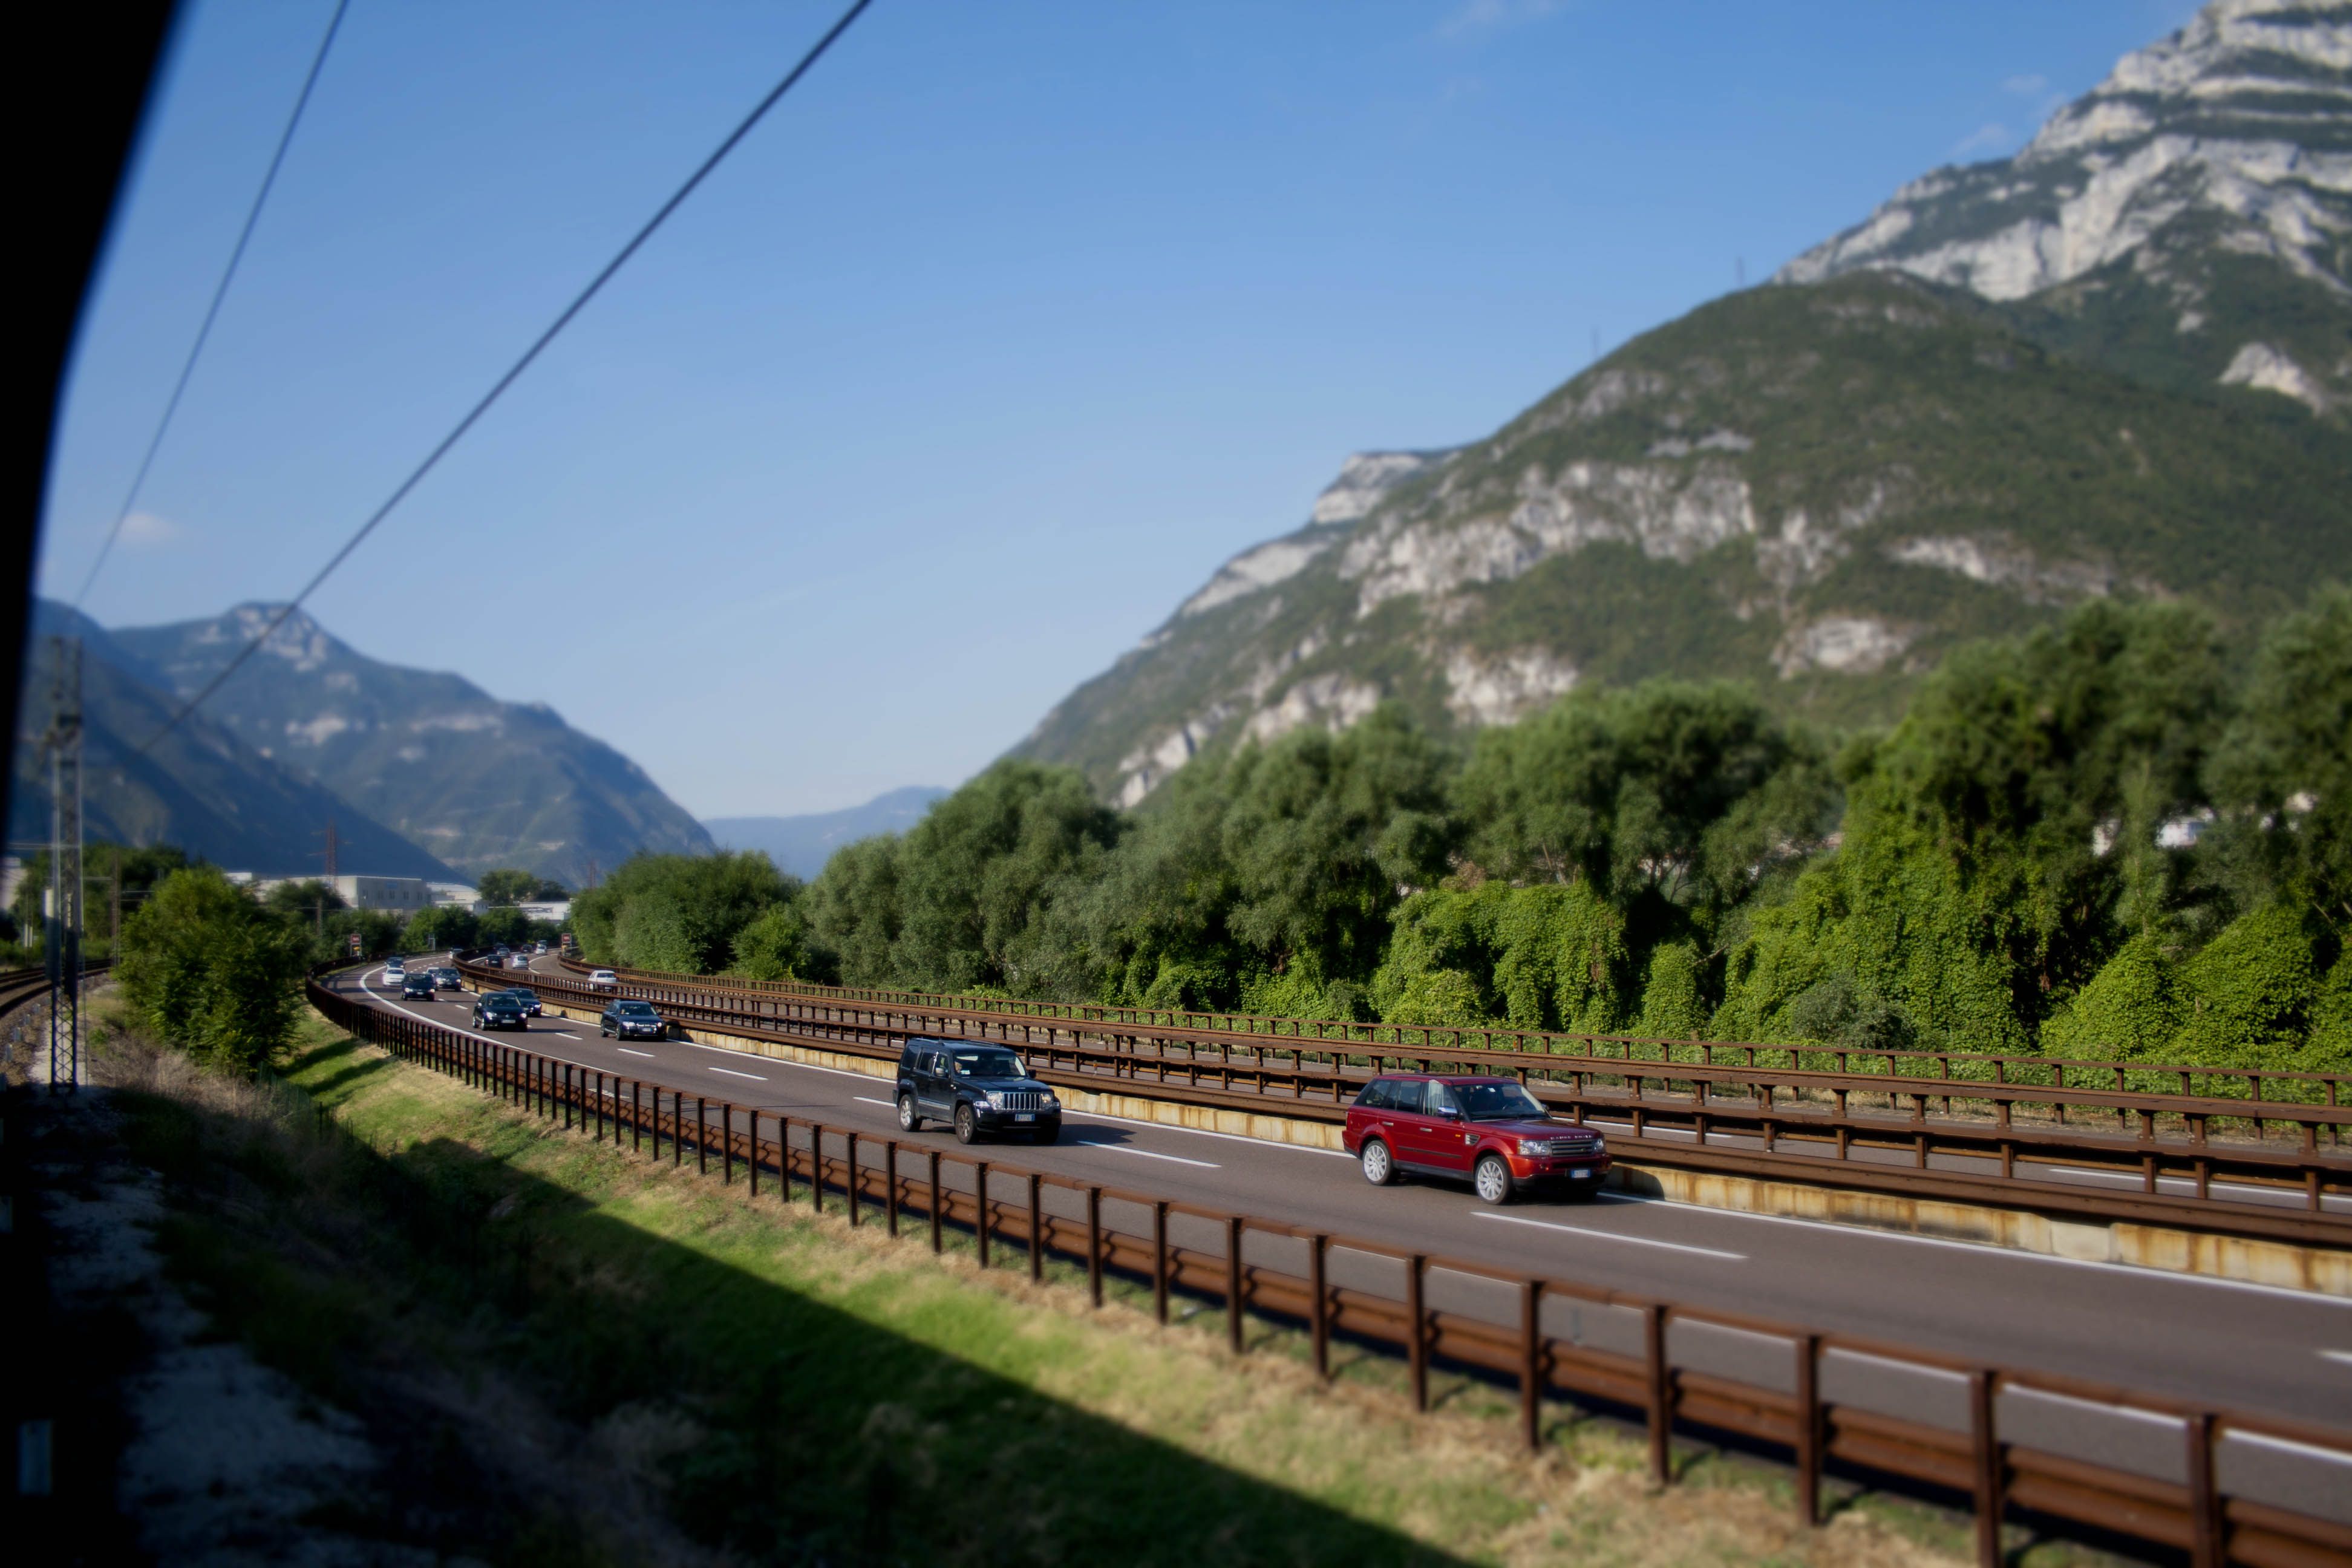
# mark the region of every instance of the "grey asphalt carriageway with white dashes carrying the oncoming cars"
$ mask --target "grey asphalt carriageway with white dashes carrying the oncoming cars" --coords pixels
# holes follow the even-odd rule
[[[346,971],[336,985],[376,1006],[470,1032],[470,992],[435,1001],[402,999],[397,990],[386,990],[381,969]],[[553,1016],[534,1018],[520,1037],[499,1032],[485,1039],[520,1044],[666,1091],[818,1119],[828,1128],[854,1128],[861,1135],[901,1138],[889,1084],[854,1072],[691,1041],[623,1046],[602,1039],[595,1025]],[[913,1138],[917,1145],[929,1140],[957,1147],[955,1135],[938,1126]],[[2343,1298],[1618,1194],[1588,1204],[1519,1201],[1496,1211],[1468,1187],[1371,1187],[1355,1161],[1319,1150],[1080,1112],[1065,1112],[1058,1145],[1016,1140],[1002,1147],[1002,1157],[1084,1182],[1463,1262],[2042,1368],[2220,1408],[2328,1427],[2352,1425],[2352,1300]],[[1105,1222],[1136,1229],[1134,1215],[1117,1215],[1108,1204]],[[1195,1239],[1181,1220],[1171,1222],[1178,1244],[1223,1251],[1216,1227],[1204,1225],[1202,1232]],[[1277,1239],[1261,1241],[1265,1262],[1284,1262]],[[1251,1244],[1251,1255],[1261,1251],[1261,1241]],[[1336,1255],[1331,1269],[1338,1284],[1402,1295],[1388,1281],[1397,1265]],[[1517,1321],[1515,1298],[1458,1274],[1432,1274],[1430,1305]],[[1632,1314],[1583,1307],[1569,1321],[1569,1302],[1555,1302],[1548,1328],[1578,1333],[1583,1342],[1609,1349],[1639,1349]],[[1682,1328],[1672,1356],[1684,1366],[1778,1387],[1792,1382],[1788,1347],[1778,1340]],[[1823,1385],[1830,1399],[1856,1399],[1938,1425],[1959,1427],[1966,1420],[1962,1385],[1952,1378],[1837,1356],[1823,1368]],[[2178,1425],[2171,1420],[2016,1396],[2004,1401],[1999,1420],[2011,1441],[2044,1446],[2037,1436],[2046,1436],[2049,1446],[2096,1450],[2147,1474],[2185,1479]],[[2244,1441],[2227,1443],[2220,1465],[2225,1488],[2244,1486],[2288,1507],[2352,1521],[2352,1467]]]

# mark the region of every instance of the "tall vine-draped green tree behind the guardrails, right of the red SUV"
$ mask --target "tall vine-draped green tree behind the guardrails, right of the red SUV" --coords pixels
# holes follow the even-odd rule
[[[1839,759],[1844,846],[1745,919],[1712,1032],[2025,1048],[2122,945],[2119,910],[2183,912],[2190,851],[2157,835],[2204,806],[2225,717],[2213,628],[2178,604],[1955,651]]]

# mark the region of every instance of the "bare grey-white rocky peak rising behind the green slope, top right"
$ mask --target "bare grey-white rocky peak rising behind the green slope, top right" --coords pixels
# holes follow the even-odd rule
[[[2352,416],[2352,7],[2223,0],[2016,155],[1912,181],[1780,282],[1900,270],[2173,390]]]

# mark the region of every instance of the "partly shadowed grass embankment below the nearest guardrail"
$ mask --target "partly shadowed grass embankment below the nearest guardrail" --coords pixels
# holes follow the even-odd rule
[[[155,1079],[174,1074],[122,1105],[174,1192],[176,1272],[397,1450],[341,1528],[501,1561],[1912,1563],[1966,1544],[1964,1523],[1870,1497],[1799,1530],[1778,1476],[1715,1458],[1653,1493],[1639,1446],[1590,1422],[1529,1458],[1494,1389],[1439,1380],[1416,1418],[1390,1363],[1319,1387],[1258,1326],[1232,1361],[1216,1312],[1157,1328],[1148,1298],[1096,1312],[1065,1269],[1033,1286],[1018,1258],[934,1260],[774,1187],[753,1206],[315,1018],[285,1072],[315,1112]]]

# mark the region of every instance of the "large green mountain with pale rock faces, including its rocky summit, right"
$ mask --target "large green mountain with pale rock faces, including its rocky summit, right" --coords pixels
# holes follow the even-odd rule
[[[1016,755],[1136,804],[1383,698],[1468,731],[1649,675],[1879,722],[2089,595],[2246,630],[2352,576],[2347,21],[2223,0],[1491,437],[1350,458]]]

